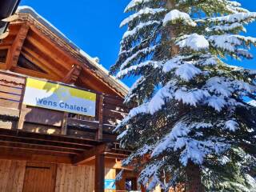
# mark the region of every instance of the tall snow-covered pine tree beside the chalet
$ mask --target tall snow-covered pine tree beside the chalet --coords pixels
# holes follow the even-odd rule
[[[256,73],[224,58],[252,58],[256,39],[241,33],[256,13],[229,0],[132,0],[126,12],[110,70],[138,77],[125,101],[138,106],[115,129],[134,151],[123,166],[148,190],[250,191]]]

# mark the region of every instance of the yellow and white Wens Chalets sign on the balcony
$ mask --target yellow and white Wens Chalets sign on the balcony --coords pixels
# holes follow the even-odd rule
[[[27,106],[94,117],[96,94],[58,83],[27,78],[23,103]]]

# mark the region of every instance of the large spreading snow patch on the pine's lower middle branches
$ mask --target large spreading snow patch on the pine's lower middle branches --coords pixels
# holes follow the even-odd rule
[[[166,150],[182,150],[179,160],[186,166],[189,159],[194,163],[202,164],[207,154],[220,154],[230,148],[229,144],[222,142],[218,138],[207,138],[207,140],[196,140],[190,138],[192,130],[210,129],[213,125],[209,122],[193,122],[190,124],[184,120],[177,122],[171,129],[170,134],[162,138],[154,148],[151,158],[157,157]]]

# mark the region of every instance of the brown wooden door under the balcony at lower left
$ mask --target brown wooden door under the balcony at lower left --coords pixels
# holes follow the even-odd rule
[[[28,162],[22,192],[54,192],[56,166]]]

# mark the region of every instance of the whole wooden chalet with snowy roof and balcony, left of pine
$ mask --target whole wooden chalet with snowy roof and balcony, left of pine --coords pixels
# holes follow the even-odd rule
[[[130,153],[112,133],[128,112],[127,87],[33,9],[17,14],[0,43],[0,192],[138,190],[131,170],[111,184]],[[32,84],[38,91],[27,92]],[[95,96],[93,115],[27,104],[42,84],[47,95],[62,87]]]

